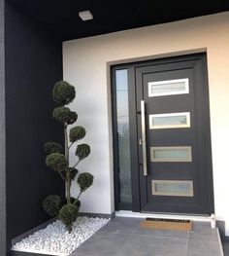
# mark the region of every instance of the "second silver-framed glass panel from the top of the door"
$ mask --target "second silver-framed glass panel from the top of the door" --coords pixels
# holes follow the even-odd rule
[[[190,113],[149,115],[149,128],[190,128]]]

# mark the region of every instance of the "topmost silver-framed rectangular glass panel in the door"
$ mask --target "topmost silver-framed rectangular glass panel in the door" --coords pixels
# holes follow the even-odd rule
[[[149,82],[148,96],[163,96],[189,93],[188,78]]]

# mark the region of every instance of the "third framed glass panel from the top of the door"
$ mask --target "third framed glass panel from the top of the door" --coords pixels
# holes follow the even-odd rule
[[[191,162],[191,147],[150,147],[151,162]]]

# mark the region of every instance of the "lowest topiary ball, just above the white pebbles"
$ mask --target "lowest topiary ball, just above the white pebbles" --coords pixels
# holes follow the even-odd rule
[[[66,229],[70,233],[74,222],[77,220],[79,208],[73,203],[65,204],[59,211],[59,219],[63,222]]]

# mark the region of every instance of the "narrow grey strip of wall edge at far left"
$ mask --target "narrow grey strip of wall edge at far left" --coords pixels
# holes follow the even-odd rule
[[[6,255],[4,0],[0,0],[0,255]]]

